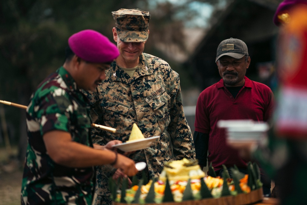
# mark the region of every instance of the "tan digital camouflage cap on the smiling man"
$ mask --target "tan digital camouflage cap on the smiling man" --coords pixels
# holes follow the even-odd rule
[[[112,12],[119,39],[123,42],[144,42],[148,39],[149,12],[120,9]]]

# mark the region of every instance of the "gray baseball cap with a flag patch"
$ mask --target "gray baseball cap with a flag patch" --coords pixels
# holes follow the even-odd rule
[[[217,47],[215,62],[222,56],[239,59],[245,55],[248,56],[247,45],[240,39],[229,38],[220,42],[220,45]]]

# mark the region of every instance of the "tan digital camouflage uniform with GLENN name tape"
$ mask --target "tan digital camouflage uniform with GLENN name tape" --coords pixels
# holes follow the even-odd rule
[[[161,58],[142,53],[133,77],[113,62],[97,92],[87,95],[98,117],[93,118],[95,123],[116,128],[116,133],[92,129],[95,143],[127,141],[133,123],[145,137],[160,136],[149,148],[129,156],[135,162],[147,163],[149,179],[158,177],[166,161],[183,157],[195,159],[192,133],[183,111],[179,75]],[[97,171],[98,195],[110,195],[107,182],[115,169],[108,168],[102,166]],[[138,176],[141,177],[140,172]]]

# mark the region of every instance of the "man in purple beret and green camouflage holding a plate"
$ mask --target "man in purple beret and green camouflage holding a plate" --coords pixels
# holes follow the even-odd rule
[[[21,204],[91,205],[97,165],[138,171],[134,161],[111,148],[93,144],[89,104],[81,92],[95,90],[119,51],[94,30],[68,39],[64,65],[32,94],[26,112],[28,148],[21,187]]]

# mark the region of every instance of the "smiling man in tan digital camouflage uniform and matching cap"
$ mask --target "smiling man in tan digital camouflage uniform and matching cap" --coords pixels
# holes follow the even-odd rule
[[[147,177],[152,179],[161,173],[166,161],[183,157],[195,159],[192,133],[183,111],[179,75],[161,58],[142,53],[149,34],[149,12],[120,9],[112,14],[116,25],[113,38],[120,56],[111,64],[97,92],[87,95],[94,105],[94,116],[98,117],[95,123],[116,128],[117,132],[93,130],[92,137],[99,144],[113,139],[125,142],[133,123],[146,138],[160,136],[149,148],[129,156],[135,162],[146,162]],[[120,174],[120,170],[98,168],[95,204],[111,204],[108,178]]]

